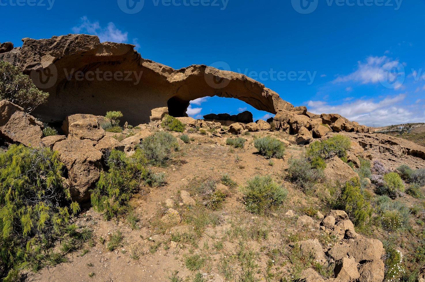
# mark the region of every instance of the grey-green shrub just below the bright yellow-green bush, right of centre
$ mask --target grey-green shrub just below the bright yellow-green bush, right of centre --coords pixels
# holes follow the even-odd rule
[[[287,172],[288,180],[305,191],[312,189],[314,184],[324,177],[323,171],[314,169],[306,158],[291,158],[288,161]]]

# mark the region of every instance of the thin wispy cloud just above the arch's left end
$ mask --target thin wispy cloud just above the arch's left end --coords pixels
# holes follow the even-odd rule
[[[116,27],[114,23],[108,23],[106,27],[102,27],[99,22],[91,22],[87,17],[81,18],[81,24],[74,26],[72,28],[74,33],[85,33],[97,35],[100,39],[100,42],[117,42],[117,43],[127,43],[128,42],[128,32],[121,31]],[[135,41],[136,40],[136,41]],[[133,39],[137,43],[137,39]],[[136,44],[134,44],[136,45]],[[138,44],[137,44],[138,45]],[[136,45],[136,47],[137,47]]]

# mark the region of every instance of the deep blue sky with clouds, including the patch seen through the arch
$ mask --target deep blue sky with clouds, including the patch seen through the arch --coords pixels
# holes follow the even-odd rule
[[[135,9],[126,0],[0,0],[0,42],[96,34],[176,69],[245,73],[314,113],[369,126],[425,122],[425,0],[129,1]],[[243,110],[272,116],[218,97],[188,113]]]

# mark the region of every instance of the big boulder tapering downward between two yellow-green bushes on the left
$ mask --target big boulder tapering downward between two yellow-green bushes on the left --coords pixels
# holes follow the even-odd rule
[[[53,147],[68,169],[71,198],[77,202],[90,199],[89,190],[100,177],[102,153],[94,148],[94,144],[90,140],[66,139]]]

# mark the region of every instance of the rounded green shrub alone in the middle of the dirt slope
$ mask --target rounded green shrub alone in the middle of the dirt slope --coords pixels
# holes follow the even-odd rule
[[[288,190],[269,175],[257,175],[247,181],[243,193],[246,209],[255,214],[264,214],[269,209],[281,206],[288,195]]]

